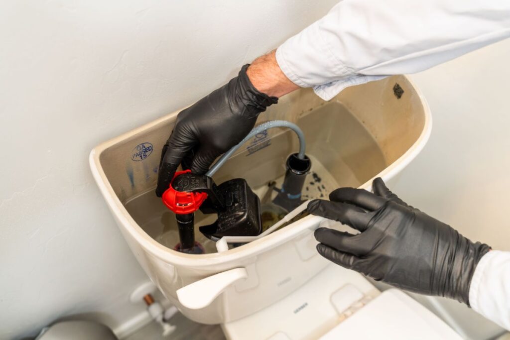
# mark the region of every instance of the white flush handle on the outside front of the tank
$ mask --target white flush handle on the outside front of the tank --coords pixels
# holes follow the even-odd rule
[[[213,302],[228,286],[248,277],[246,268],[235,268],[198,280],[177,290],[183,306],[200,309]]]

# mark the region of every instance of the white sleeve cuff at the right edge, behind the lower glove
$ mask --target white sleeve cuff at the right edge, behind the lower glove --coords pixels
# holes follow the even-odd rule
[[[471,279],[469,304],[510,330],[510,252],[491,250],[482,256]]]

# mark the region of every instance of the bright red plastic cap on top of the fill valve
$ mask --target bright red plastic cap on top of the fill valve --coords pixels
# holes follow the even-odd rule
[[[194,213],[207,198],[206,193],[177,191],[172,187],[173,181],[177,176],[189,172],[191,172],[191,170],[177,171],[175,175],[173,175],[170,187],[161,197],[163,203],[175,214],[183,215]],[[180,185],[179,187],[183,188],[186,187],[186,185]]]

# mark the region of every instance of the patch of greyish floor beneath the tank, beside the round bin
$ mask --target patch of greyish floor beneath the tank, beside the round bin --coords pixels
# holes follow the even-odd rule
[[[176,313],[170,323],[176,329],[169,335],[162,335],[159,324],[151,322],[124,340],[226,340],[219,325],[202,325],[189,320],[181,313]]]

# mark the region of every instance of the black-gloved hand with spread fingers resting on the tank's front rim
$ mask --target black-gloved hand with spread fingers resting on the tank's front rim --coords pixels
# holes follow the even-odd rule
[[[341,188],[330,201],[313,200],[308,211],[359,230],[353,235],[328,228],[315,231],[317,250],[334,263],[374,280],[469,305],[475,267],[490,247],[473,243],[447,224],[407,205],[382,179],[374,194]]]

